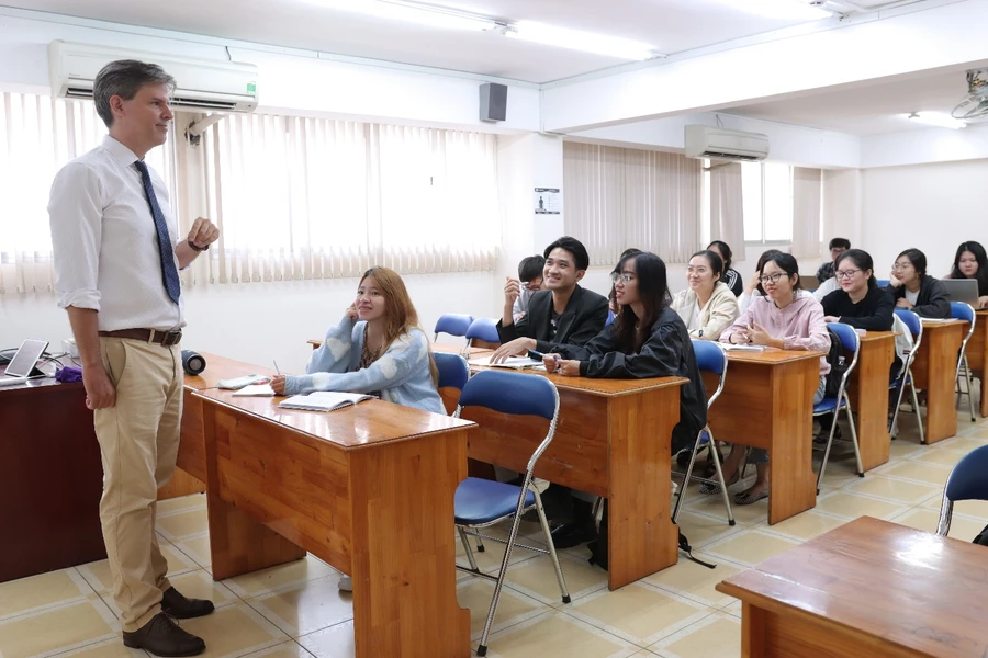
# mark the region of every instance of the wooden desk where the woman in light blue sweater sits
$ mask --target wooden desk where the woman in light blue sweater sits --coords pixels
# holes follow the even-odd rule
[[[318,413],[215,389],[194,397],[214,579],[260,568],[279,544],[310,551],[353,579],[358,657],[470,656],[453,496],[472,423],[382,400]]]

